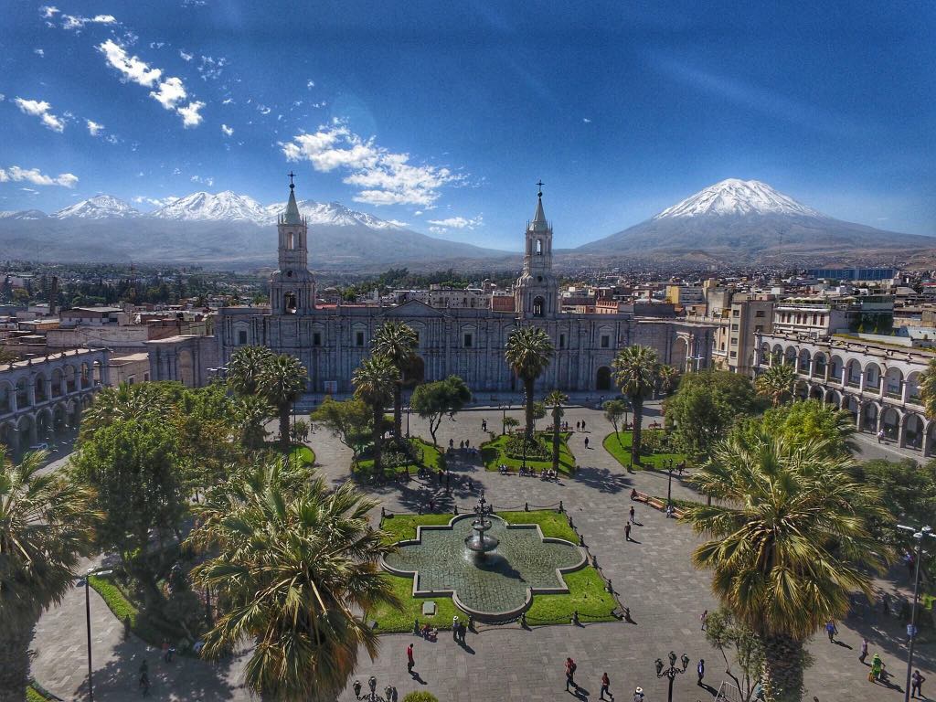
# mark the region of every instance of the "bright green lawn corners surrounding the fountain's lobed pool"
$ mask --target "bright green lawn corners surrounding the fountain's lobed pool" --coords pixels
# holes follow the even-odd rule
[[[539,524],[544,536],[563,538],[572,543],[578,543],[578,535],[568,525],[564,514],[551,510],[535,510],[532,512],[497,512],[498,517],[511,524]],[[396,543],[402,539],[416,538],[417,526],[429,524],[447,524],[452,515],[394,515],[381,522],[381,527],[387,532],[385,540]],[[438,629],[450,629],[452,617],[464,615],[455,607],[449,597],[413,597],[413,578],[401,578],[384,574],[388,578],[393,592],[400,597],[402,609],[391,607],[376,607],[367,615],[368,620],[377,622],[377,631],[383,633],[402,633],[412,631],[413,620],[421,623],[430,623]],[[564,576],[569,586],[567,594],[537,594],[534,595],[533,605],[527,612],[527,619],[531,625],[537,624],[565,624],[571,621],[572,613],[578,609],[578,615],[583,622],[613,622],[611,611],[617,607],[614,598],[605,592],[605,583],[591,566],[586,566],[575,573],[566,573]],[[436,613],[433,617],[422,615],[422,605],[428,599],[436,604]]]

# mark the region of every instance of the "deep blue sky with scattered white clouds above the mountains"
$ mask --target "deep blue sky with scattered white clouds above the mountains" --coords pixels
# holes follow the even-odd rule
[[[775,7],[770,7],[775,6]],[[724,178],[936,235],[936,6],[9,3],[0,210],[196,190],[556,246]]]

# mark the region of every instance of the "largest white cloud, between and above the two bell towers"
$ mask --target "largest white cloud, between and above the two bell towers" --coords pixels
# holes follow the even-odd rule
[[[374,139],[361,139],[342,122],[318,128],[314,134],[299,134],[280,144],[289,161],[309,161],[328,173],[336,168],[349,171],[344,183],[358,188],[356,202],[371,205],[430,206],[444,185],[460,183],[464,176],[448,168],[409,163],[409,154],[394,154]]]

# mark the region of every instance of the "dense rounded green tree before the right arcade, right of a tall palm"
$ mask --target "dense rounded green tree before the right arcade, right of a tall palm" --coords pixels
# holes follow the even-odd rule
[[[674,425],[674,443],[696,460],[724,439],[739,417],[760,408],[751,381],[728,371],[687,373],[664,402],[667,423]]]

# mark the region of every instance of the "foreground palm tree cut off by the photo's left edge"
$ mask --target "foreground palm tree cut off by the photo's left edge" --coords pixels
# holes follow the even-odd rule
[[[19,464],[0,448],[0,699],[22,699],[29,643],[42,610],[71,589],[90,555],[98,515],[93,493],[63,475],[39,475],[48,454]]]

